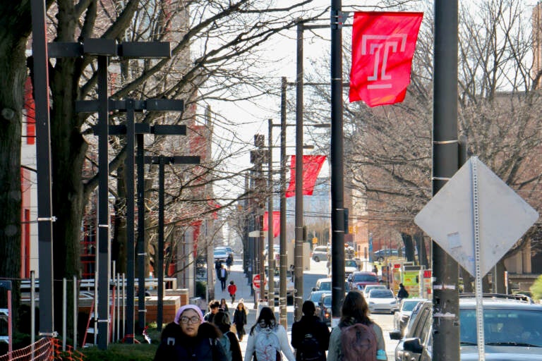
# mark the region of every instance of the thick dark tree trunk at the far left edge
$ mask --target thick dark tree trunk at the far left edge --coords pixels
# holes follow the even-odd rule
[[[13,327],[18,330],[20,305],[20,146],[24,83],[27,77],[25,45],[30,34],[30,4],[0,4],[0,278],[13,281]],[[6,307],[0,290],[0,307]]]

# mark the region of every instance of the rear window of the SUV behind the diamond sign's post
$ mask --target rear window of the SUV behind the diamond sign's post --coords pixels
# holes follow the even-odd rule
[[[462,345],[476,345],[476,310],[459,312],[459,340]],[[531,346],[542,348],[542,312],[487,308],[483,310],[483,332],[486,345]]]

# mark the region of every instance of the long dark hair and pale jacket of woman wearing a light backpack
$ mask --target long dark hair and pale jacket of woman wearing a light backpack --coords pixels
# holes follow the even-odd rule
[[[294,353],[292,352],[288,343],[288,334],[286,329],[284,329],[282,324],[277,323],[275,313],[270,309],[270,307],[262,307],[256,323],[251,327],[251,331],[248,333],[245,361],[253,360],[255,353],[258,353],[256,345],[258,344],[257,339],[259,338],[258,336],[260,334],[274,334],[274,336],[270,338],[277,340],[276,344],[274,345],[277,353],[282,352],[288,361],[296,360],[296,357],[294,356]],[[256,360],[255,357],[254,360]]]

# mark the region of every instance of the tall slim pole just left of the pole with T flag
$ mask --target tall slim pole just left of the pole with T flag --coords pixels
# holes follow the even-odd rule
[[[294,247],[294,318],[303,312],[303,24],[297,25],[296,74],[296,243]]]

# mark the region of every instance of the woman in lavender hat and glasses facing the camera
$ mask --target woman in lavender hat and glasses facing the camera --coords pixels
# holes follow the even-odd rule
[[[228,361],[220,336],[217,326],[203,322],[198,306],[184,305],[164,327],[154,361]]]

